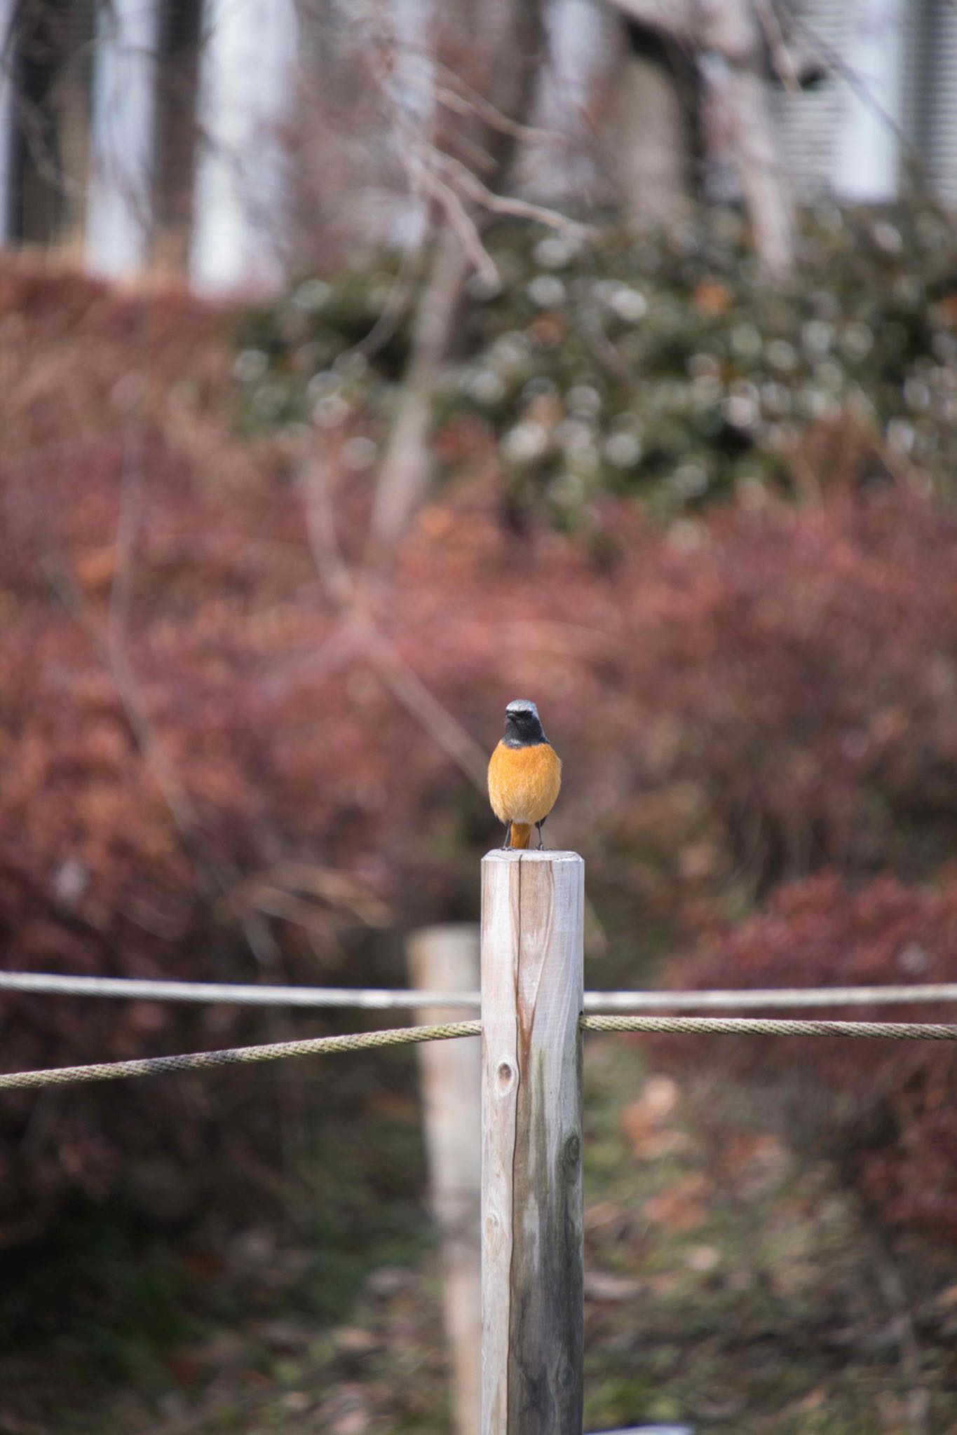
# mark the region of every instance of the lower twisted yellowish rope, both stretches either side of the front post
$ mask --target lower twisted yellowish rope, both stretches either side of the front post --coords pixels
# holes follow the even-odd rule
[[[748,1016],[583,1016],[585,1032],[677,1032],[719,1036],[858,1036],[897,1042],[957,1042],[957,1026],[923,1022],[796,1022]],[[449,1022],[439,1026],[400,1026],[385,1032],[349,1036],[316,1036],[301,1042],[273,1042],[267,1046],[234,1046],[218,1052],[187,1052],[179,1056],[146,1056],[131,1062],[100,1062],[90,1066],[56,1066],[47,1071],[0,1072],[0,1092],[42,1086],[80,1086],[88,1082],[119,1081],[123,1076],[159,1076],[164,1072],[202,1071],[274,1062],[287,1056],[331,1056],[377,1046],[406,1046],[459,1036],[481,1036],[481,1022]]]

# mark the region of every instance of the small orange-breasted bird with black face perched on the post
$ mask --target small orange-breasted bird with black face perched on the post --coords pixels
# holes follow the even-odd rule
[[[528,847],[532,827],[538,850],[542,824],[561,786],[561,758],[542,732],[535,703],[517,697],[505,709],[505,736],[488,765],[488,796],[505,824],[502,847]]]

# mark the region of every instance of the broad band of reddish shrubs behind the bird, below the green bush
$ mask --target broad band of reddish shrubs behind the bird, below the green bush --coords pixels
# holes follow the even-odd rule
[[[343,608],[301,438],[231,428],[221,317],[0,284],[6,966],[248,977],[251,940],[270,974],[316,980],[376,903],[396,924],[473,913],[495,828],[448,749],[488,751],[517,695],[565,759],[551,841],[636,944],[825,865],[910,878],[953,851],[957,531],[931,502],[839,492],[664,531],[597,498],[562,535],[502,512],[463,432],[468,471]],[[367,481],[329,452],[320,478],[349,563]],[[10,1003],[4,1063],[237,1035],[121,1010]],[[135,1141],[195,1144],[151,1092],[123,1098]],[[115,1101],[65,1104],[39,1148],[32,1109],[0,1115],[9,1205],[116,1178]]]

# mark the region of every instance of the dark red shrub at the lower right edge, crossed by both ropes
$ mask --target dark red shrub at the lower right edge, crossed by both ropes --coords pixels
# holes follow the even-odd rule
[[[957,872],[934,887],[881,877],[857,890],[834,872],[778,891],[768,910],[713,931],[669,967],[679,987],[874,986],[957,980]],[[770,1015],[770,1013],[769,1013]],[[781,1015],[781,1013],[775,1013]],[[785,1013],[788,1015],[788,1013]],[[802,1013],[805,1015],[805,1013]],[[829,1019],[950,1020],[941,1006],[872,1006],[812,1013]],[[930,1042],[710,1038],[715,1069],[768,1086],[814,1072],[816,1111],[792,1124],[847,1164],[891,1223],[957,1237],[957,1049]],[[699,1040],[664,1043],[673,1060],[700,1060]],[[806,1082],[799,1079],[806,1096]]]

